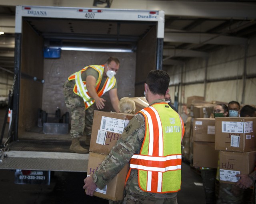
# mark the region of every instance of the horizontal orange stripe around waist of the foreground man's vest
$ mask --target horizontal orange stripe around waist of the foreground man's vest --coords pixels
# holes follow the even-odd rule
[[[142,165],[146,167],[159,167],[165,168],[170,166],[177,166],[181,165],[182,159],[170,159],[167,161],[151,161],[151,160],[144,160],[144,159],[131,159],[130,164],[134,165]]]

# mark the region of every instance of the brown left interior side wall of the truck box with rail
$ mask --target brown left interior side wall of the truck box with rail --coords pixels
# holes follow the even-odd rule
[[[43,39],[26,22],[22,25],[21,53],[19,133],[37,124],[37,110],[42,107],[43,85],[32,77],[43,78]]]

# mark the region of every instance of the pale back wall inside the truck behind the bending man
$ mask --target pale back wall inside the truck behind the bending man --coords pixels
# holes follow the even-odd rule
[[[43,85],[42,110],[51,114],[55,113],[58,107],[61,115],[68,111],[64,102],[62,87],[64,82],[71,74],[88,65],[103,65],[111,56],[117,57],[120,61],[120,68],[116,75],[118,98],[134,97],[136,53],[61,51],[61,56],[58,59],[44,59],[45,83]],[[114,111],[108,92],[102,98],[107,101],[102,111]]]

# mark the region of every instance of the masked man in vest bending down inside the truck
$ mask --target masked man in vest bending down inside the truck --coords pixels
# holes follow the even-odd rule
[[[70,75],[63,85],[65,103],[71,112],[70,135],[72,143],[70,151],[80,154],[88,153],[88,149],[80,145],[79,138],[84,130],[86,145],[90,145],[94,103],[101,110],[106,100],[101,96],[108,92],[111,104],[119,112],[117,83],[114,77],[119,69],[120,62],[116,57],[110,57],[104,65],[89,65]]]

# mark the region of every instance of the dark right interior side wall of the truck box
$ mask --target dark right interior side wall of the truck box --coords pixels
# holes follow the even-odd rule
[[[156,26],[137,44],[135,96],[144,96],[144,83],[148,72],[156,69]]]

